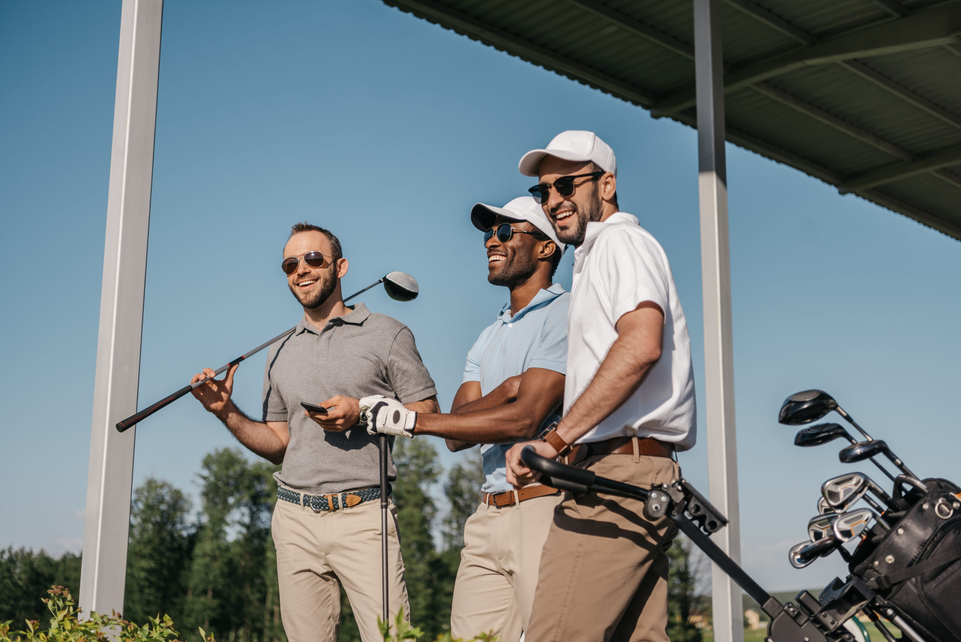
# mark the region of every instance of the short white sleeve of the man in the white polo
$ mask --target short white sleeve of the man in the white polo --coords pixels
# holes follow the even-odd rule
[[[613,323],[636,310],[643,301],[656,303],[665,316],[668,314],[668,272],[659,245],[643,233],[618,230],[606,234],[598,249],[604,252],[600,261],[604,270],[602,282],[610,300]]]

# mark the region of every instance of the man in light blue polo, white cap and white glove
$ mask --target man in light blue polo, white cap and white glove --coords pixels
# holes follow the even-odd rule
[[[564,244],[530,196],[503,208],[478,203],[471,220],[484,232],[487,280],[510,302],[467,354],[449,415],[407,410],[396,399],[363,398],[368,431],[444,437],[452,450],[482,444],[483,501],[464,527],[451,613],[454,637],[493,629],[517,642],[530,620],[540,552],[561,494],[507,483],[505,452],[560,419],[567,362],[570,295],[552,285]],[[386,410],[387,412],[382,412]]]

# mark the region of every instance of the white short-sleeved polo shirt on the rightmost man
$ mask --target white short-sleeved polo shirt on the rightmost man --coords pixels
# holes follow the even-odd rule
[[[641,387],[579,444],[637,435],[694,447],[697,420],[687,321],[664,249],[624,212],[589,222],[574,252],[574,285],[567,319],[564,414],[594,378],[617,339],[615,324],[653,301],[664,311],[664,345]]]

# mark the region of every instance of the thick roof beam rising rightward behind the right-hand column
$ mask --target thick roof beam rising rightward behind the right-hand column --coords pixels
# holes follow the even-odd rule
[[[888,20],[846,36],[825,40],[750,64],[725,80],[725,91],[740,90],[805,66],[832,64],[854,58],[926,49],[954,42],[961,34],[961,2]],[[679,91],[653,106],[654,116],[668,116],[697,102],[693,89]]]

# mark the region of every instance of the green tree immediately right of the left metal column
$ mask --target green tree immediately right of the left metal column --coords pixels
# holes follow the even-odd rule
[[[181,622],[186,569],[193,552],[190,500],[166,481],[149,478],[134,492],[124,617],[146,622],[170,615]]]

